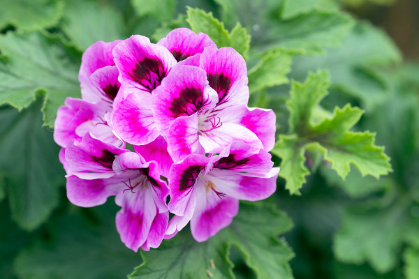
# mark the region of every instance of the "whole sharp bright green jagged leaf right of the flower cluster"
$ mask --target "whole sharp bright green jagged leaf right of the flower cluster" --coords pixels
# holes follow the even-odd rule
[[[286,188],[292,194],[299,193],[308,174],[303,165],[305,151],[321,153],[343,179],[351,170],[351,164],[362,176],[369,174],[378,178],[391,171],[390,158],[384,148],[374,145],[375,134],[349,131],[360,119],[362,110],[350,105],[341,109],[335,107],[331,115],[316,110],[328,93],[328,80],[329,75],[324,71],[310,73],[304,84],[293,82],[291,87],[291,98],[286,103],[290,111],[291,137],[281,136],[272,153],[282,158],[279,176],[287,180]],[[318,115],[326,117],[321,120]]]

